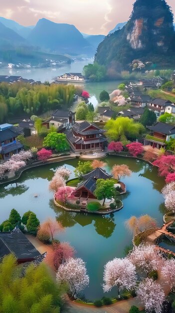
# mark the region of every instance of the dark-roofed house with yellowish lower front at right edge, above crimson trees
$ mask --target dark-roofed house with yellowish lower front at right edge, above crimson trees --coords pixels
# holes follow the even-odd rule
[[[170,141],[171,138],[175,139],[175,125],[157,122],[155,125],[147,128],[151,130],[151,135],[146,136],[144,145],[161,148],[166,145],[166,141]]]

